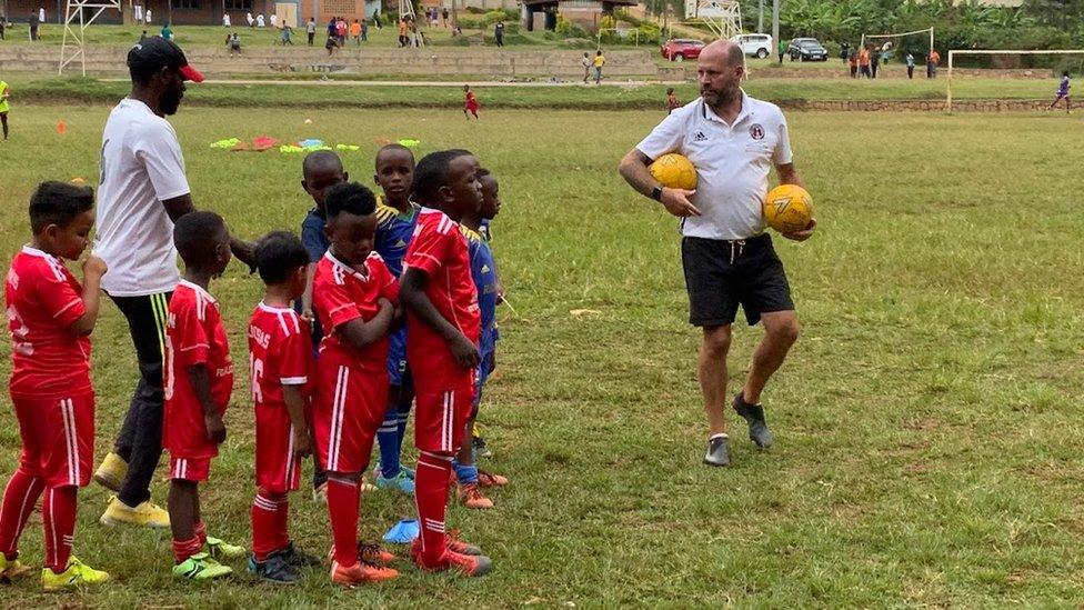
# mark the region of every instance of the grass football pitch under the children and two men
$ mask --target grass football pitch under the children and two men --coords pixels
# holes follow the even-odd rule
[[[107,106],[19,107],[0,141],[0,252],[29,238],[44,179],[96,183]],[[68,132],[54,127],[64,118]],[[310,118],[312,124],[304,124]],[[489,512],[452,507],[495,571],[465,580],[400,561],[399,580],[335,589],[318,570],[292,589],[251,580],[174,582],[169,533],[97,523],[108,494],[80,494],[76,553],[114,580],[46,594],[27,578],[0,606],[154,607],[991,607],[1084,599],[1080,396],[1084,180],[1075,117],[791,113],[795,163],[816,201],[809,242],[776,240],[803,336],[764,394],[776,444],[743,422],[734,467],[701,466],[699,336],[675,219],[633,193],[618,160],[659,112],[297,111],[183,108],[173,119],[198,207],[255,238],[298,229],[311,204],[301,157],[209,148],[269,134],[360,144],[351,177],[371,183],[377,139],[420,152],[465,147],[501,180],[494,250],[519,314],[499,310],[498,374],[480,419],[508,474]],[[230,439],[202,490],[212,536],[249,544],[252,407],[243,330],[261,293],[234,266],[212,282],[238,381]],[[94,332],[100,458],[136,380],[123,320]],[[760,329],[735,327],[732,388]],[[3,341],[2,376],[10,344]],[[6,394],[4,394],[6,397]],[[0,476],[19,447],[0,400]],[[737,418],[731,418],[731,420]],[[412,453],[412,451],[411,451]],[[409,458],[412,462],[413,459]],[[164,470],[153,489],[164,503]],[[307,469],[308,473],[308,469]],[[362,499],[362,538],[412,517],[413,501]],[[327,511],[292,496],[295,540],[322,554]],[[41,526],[21,544],[40,567]],[[393,549],[404,556],[404,549]]]

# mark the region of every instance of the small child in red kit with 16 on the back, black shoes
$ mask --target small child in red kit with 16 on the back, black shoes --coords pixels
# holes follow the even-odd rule
[[[255,250],[263,300],[249,321],[249,372],[255,403],[255,482],[249,571],[281,584],[298,581],[298,568],[320,560],[290,541],[290,491],[301,483],[301,460],[312,452],[308,421],[313,369],[309,323],[291,303],[305,291],[309,254],[289,231],[267,234]]]

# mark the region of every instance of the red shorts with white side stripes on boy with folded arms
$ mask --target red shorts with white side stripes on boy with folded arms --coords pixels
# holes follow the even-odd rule
[[[362,472],[388,410],[388,370],[317,362],[312,428],[320,463],[330,472]]]

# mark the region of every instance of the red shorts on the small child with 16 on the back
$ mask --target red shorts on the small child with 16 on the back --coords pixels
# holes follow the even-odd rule
[[[301,488],[301,462],[293,454],[293,424],[284,403],[255,408],[255,484],[272,493]]]

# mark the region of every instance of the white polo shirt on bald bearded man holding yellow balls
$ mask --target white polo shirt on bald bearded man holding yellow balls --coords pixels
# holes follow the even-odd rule
[[[697,98],[668,116],[636,149],[650,159],[679,152],[696,166],[696,194],[690,201],[703,216],[684,219],[681,231],[705,239],[763,233],[767,176],[772,166],[793,160],[783,112],[744,91],[734,124],[726,124]]]

